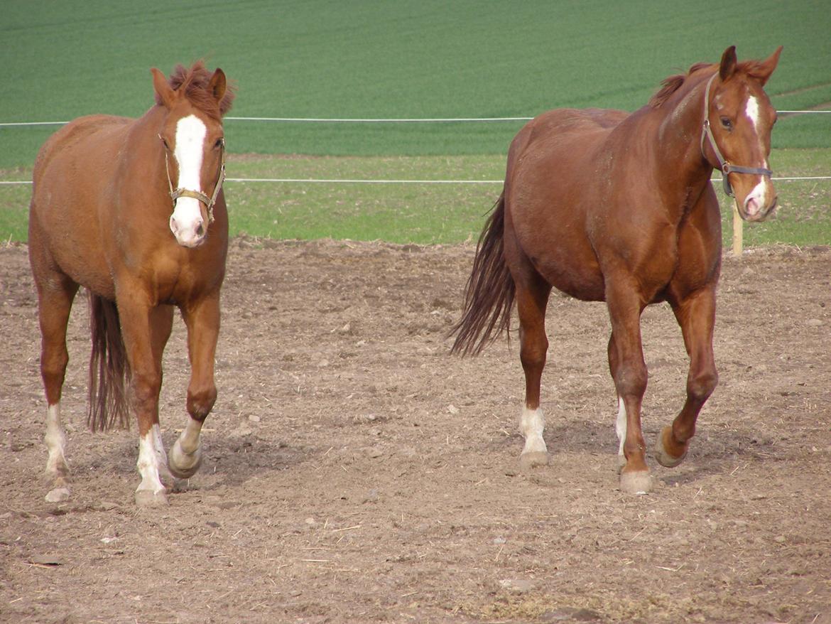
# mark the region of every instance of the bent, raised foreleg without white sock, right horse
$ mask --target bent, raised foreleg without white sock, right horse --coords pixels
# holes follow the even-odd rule
[[[674,468],[681,463],[696,434],[696,420],[701,408],[718,384],[713,357],[713,326],[715,324],[715,289],[700,290],[679,303],[673,303],[690,371],[686,378],[686,401],[671,426],[663,428],[656,441],[655,458],[661,466]]]

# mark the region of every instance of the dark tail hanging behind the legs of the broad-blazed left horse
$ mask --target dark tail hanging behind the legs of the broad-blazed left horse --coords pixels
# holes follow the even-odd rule
[[[106,431],[116,423],[130,428],[130,410],[125,393],[130,363],[121,337],[116,304],[90,293],[90,326],[90,411],[86,423],[92,431]]]

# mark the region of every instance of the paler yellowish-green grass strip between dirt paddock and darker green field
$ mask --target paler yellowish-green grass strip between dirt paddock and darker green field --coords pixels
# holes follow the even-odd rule
[[[828,175],[831,149],[774,150],[774,176]],[[229,156],[229,177],[293,180],[500,181],[504,156]],[[29,169],[0,171],[27,180]],[[745,245],[831,245],[831,181],[777,181],[774,219],[745,225]],[[725,245],[732,200],[719,193]],[[261,238],[386,240],[451,244],[475,241],[501,183],[228,181],[232,235]],[[27,239],[30,186],[0,186],[0,240]]]

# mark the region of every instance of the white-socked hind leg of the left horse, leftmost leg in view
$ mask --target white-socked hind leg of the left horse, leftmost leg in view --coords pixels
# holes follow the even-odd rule
[[[46,476],[52,489],[46,500],[50,503],[66,501],[70,495],[70,469],[66,463],[66,433],[61,424],[61,394],[66,376],[69,353],[66,350],[66,324],[78,285],[66,275],[50,272],[36,274],[38,313],[41,325],[41,377],[47,396]]]

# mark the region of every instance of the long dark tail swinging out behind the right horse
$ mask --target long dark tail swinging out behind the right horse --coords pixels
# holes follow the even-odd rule
[[[450,353],[478,355],[509,329],[516,288],[504,259],[504,223],[503,191],[479,235],[473,270],[465,286],[465,312],[450,329],[451,335],[456,334]]]

